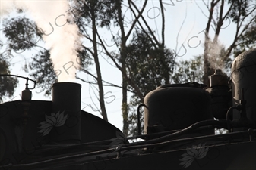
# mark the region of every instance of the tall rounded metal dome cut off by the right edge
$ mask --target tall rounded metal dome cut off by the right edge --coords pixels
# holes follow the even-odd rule
[[[242,89],[244,89],[246,116],[256,122],[256,49],[245,51],[236,57],[231,71],[233,106],[239,105],[239,101],[242,100]],[[239,112],[234,110],[233,119],[240,118]],[[234,131],[241,129],[244,128],[235,128]]]

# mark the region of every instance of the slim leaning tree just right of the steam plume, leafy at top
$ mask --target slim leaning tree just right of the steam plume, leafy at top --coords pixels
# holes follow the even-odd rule
[[[93,56],[93,61],[96,66],[96,76],[93,76],[88,70],[82,70],[84,73],[93,76],[96,79],[96,84],[99,89],[99,102],[100,102],[100,114],[103,119],[108,121],[106,107],[104,102],[104,90],[103,90],[103,79],[100,70],[100,60],[99,60],[99,49],[97,40],[97,27],[109,27],[112,19],[115,17],[117,12],[116,2],[106,0],[106,1],[72,1],[74,4],[74,11],[71,14],[74,16],[74,20],[80,29],[81,35],[93,45],[90,49],[84,46],[84,50]],[[89,32],[88,31],[91,31]],[[91,36],[90,36],[91,35]],[[78,78],[81,79],[81,78]],[[83,81],[83,79],[81,79]]]

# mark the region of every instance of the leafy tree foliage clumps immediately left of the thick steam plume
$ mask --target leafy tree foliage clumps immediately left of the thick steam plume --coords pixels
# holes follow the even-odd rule
[[[36,23],[27,17],[19,16],[5,19],[3,26],[5,26],[3,32],[8,39],[9,51],[21,54],[32,48],[41,48],[39,53],[34,55],[33,62],[29,66],[27,63],[24,65],[24,70],[33,69],[34,73],[31,73],[33,79],[36,79],[40,87],[46,90],[46,95],[51,94],[49,82],[56,82],[56,76],[49,58],[49,51],[37,45],[42,40],[42,32],[37,29]]]

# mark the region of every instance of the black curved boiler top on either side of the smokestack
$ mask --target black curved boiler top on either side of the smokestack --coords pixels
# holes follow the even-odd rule
[[[21,100],[17,100],[0,104],[0,169],[2,165],[19,165],[28,161],[35,162],[39,158],[53,156],[52,153],[41,153],[41,150],[45,148],[44,146],[51,145],[52,148],[63,146],[63,144],[52,142],[50,133],[45,136],[39,133],[40,122],[46,121],[46,115],[52,113],[52,101],[30,101],[30,119],[25,129],[15,121],[23,113],[21,103]],[[83,110],[81,110],[81,122],[81,143],[108,140],[103,144],[110,144],[113,141],[111,141],[112,138],[117,138],[118,133],[122,134],[114,125]],[[52,131],[54,130],[52,128]],[[22,144],[23,135],[24,146]],[[108,146],[106,145],[106,147]],[[78,150],[81,150],[81,148]],[[63,153],[63,151],[70,154],[75,152],[75,150],[63,148],[62,152],[54,153]],[[35,154],[36,156],[33,156]]]

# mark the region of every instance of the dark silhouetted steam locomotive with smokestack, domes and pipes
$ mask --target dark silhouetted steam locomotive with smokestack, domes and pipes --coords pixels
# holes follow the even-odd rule
[[[128,138],[81,110],[81,85],[57,82],[52,100],[0,104],[0,169],[256,169],[256,49],[210,87],[162,85],[144,97],[144,131]],[[28,79],[27,79],[28,81]],[[225,128],[228,133],[215,134]],[[142,139],[131,142],[131,140]]]

